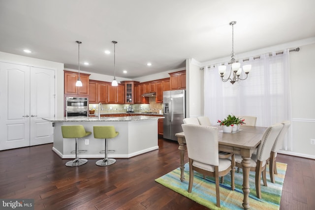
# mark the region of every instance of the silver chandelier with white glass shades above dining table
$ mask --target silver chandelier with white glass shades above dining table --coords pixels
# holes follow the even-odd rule
[[[232,26],[232,55],[231,55],[231,61],[229,62],[229,64],[231,63],[231,71],[230,71],[229,76],[226,79],[223,78],[226,72],[226,66],[225,65],[219,66],[219,73],[220,73],[222,81],[223,82],[230,81],[232,85],[235,82],[238,82],[239,80],[246,80],[248,77],[248,74],[250,73],[252,69],[252,65],[243,65],[243,70],[246,74],[246,77],[244,79],[240,78],[240,75],[242,73],[242,68],[240,68],[241,63],[236,62],[234,58],[234,25],[235,24],[236,24],[236,21],[232,21],[229,23],[229,25]]]

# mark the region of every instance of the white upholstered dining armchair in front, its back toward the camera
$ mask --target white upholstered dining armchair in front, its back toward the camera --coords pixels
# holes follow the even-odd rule
[[[219,158],[218,128],[204,125],[182,124],[189,157],[189,186],[192,190],[194,171],[216,180],[217,207],[220,205],[219,177],[231,173],[231,189],[234,190],[234,154],[229,159]]]

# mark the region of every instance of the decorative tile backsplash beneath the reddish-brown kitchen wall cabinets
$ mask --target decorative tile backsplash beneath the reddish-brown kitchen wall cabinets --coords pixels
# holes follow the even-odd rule
[[[102,104],[103,110],[100,113],[126,113],[127,107],[130,104]],[[163,112],[163,104],[156,103],[155,97],[149,97],[149,104],[131,104],[134,112],[156,112],[159,110]],[[89,104],[89,110],[95,109],[95,113],[98,112],[98,104]]]

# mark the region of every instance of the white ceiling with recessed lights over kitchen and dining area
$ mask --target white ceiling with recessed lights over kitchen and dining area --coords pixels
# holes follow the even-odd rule
[[[0,0],[0,51],[78,69],[79,40],[80,70],[113,75],[115,40],[116,76],[132,79],[230,56],[231,21],[235,54],[313,37],[314,8],[315,0]]]

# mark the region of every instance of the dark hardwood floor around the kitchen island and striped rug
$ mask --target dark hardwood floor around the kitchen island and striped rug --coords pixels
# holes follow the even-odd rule
[[[0,198],[32,198],[35,210],[207,209],[154,181],[179,167],[177,142],[158,144],[107,167],[97,159],[66,167],[52,144],[0,151]],[[278,154],[277,161],[288,164],[280,209],[314,210],[315,160]]]

